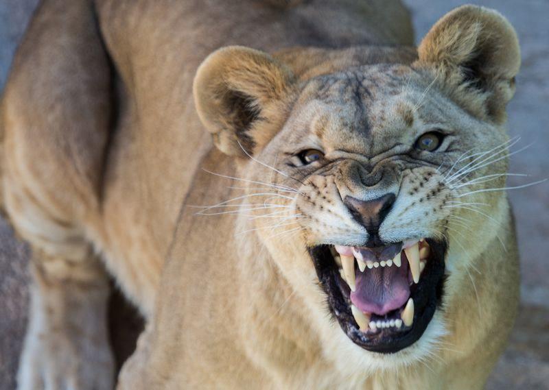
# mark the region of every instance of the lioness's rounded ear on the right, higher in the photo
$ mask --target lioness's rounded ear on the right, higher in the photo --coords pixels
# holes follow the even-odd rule
[[[495,123],[505,120],[520,51],[515,29],[504,16],[476,5],[456,8],[432,27],[418,53],[416,64],[434,68],[458,103]]]

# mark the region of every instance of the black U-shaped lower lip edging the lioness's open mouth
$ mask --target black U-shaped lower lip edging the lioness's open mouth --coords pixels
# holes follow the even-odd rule
[[[325,293],[331,313],[336,317],[342,330],[355,344],[371,352],[392,354],[415,343],[425,332],[434,312],[441,304],[445,281],[445,254],[447,244],[444,241],[427,239],[431,247],[431,256],[421,274],[418,284],[414,285],[414,323],[411,328],[401,332],[361,332],[351,314],[351,308],[339,287],[339,271],[334,263],[328,245],[318,245],[309,249],[316,269],[316,275]]]

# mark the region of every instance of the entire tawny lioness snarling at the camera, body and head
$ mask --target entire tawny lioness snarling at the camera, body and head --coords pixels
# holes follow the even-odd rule
[[[519,47],[472,5],[412,42],[396,0],[43,1],[1,111],[19,389],[113,387],[108,273],[148,319],[119,389],[481,389]]]

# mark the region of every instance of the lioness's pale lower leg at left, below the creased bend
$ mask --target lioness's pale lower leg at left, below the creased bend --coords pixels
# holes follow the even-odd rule
[[[32,255],[30,321],[20,390],[113,389],[106,321],[108,278],[91,253]]]

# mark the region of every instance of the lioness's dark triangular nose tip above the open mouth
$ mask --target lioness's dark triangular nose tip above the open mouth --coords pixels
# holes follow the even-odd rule
[[[344,204],[351,215],[361,223],[371,236],[377,236],[379,226],[395,203],[395,194],[388,193],[371,200],[361,200],[347,196]]]

